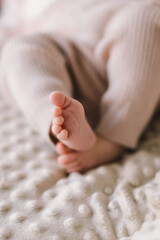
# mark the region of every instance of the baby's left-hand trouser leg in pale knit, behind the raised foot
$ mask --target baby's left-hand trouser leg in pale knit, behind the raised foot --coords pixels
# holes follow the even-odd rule
[[[49,143],[52,114],[49,94],[71,96],[72,86],[63,54],[48,35],[21,36],[10,40],[1,56],[3,93]],[[7,91],[7,92],[6,92]]]

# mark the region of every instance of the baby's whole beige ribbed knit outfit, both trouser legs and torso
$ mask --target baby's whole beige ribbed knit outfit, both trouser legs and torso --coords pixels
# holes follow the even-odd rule
[[[60,90],[99,135],[135,148],[158,106],[159,63],[158,1],[58,0],[4,47],[1,86],[47,140],[48,95]]]

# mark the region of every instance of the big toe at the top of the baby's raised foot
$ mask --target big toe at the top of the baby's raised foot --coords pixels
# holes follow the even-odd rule
[[[52,104],[57,107],[68,107],[71,103],[71,98],[66,96],[64,93],[59,91],[54,91],[49,95],[49,100]]]

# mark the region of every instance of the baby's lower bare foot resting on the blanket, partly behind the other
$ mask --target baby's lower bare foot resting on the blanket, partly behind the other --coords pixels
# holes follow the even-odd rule
[[[73,151],[59,142],[56,145],[60,166],[68,173],[84,172],[104,163],[115,160],[124,152],[124,148],[97,138],[96,144],[88,151]]]

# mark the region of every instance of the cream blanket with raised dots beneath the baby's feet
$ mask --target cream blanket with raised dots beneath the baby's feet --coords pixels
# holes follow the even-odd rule
[[[0,240],[159,240],[158,120],[120,162],[66,176],[0,97]]]

